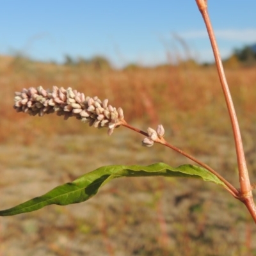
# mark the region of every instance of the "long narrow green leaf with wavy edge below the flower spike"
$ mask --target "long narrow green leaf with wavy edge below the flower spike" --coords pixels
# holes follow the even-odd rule
[[[45,195],[33,198],[10,209],[0,211],[0,216],[36,211],[51,204],[68,205],[81,203],[94,196],[101,186],[112,179],[145,176],[199,178],[214,182],[226,188],[225,184],[214,174],[204,168],[191,164],[182,165],[177,168],[164,163],[156,163],[149,166],[103,166],[93,172],[86,173],[73,182],[58,186]]]

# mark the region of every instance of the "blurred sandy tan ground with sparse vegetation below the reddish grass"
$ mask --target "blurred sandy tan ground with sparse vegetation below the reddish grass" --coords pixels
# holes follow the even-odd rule
[[[189,150],[186,141],[170,138]],[[86,130],[0,145],[0,209],[103,165],[191,163],[160,145],[141,147],[142,139],[120,128],[111,138]],[[215,156],[199,146],[195,154],[237,184],[230,145],[227,136],[212,136],[207,148]],[[247,151],[253,159],[254,148]],[[245,207],[223,188],[191,179],[116,179],[82,204],[0,218],[0,230],[0,256],[256,255],[256,226]]]

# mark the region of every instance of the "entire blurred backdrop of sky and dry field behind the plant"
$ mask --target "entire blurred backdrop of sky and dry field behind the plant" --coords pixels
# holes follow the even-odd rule
[[[256,2],[208,1],[256,177]],[[191,163],[124,127],[109,137],[72,118],[29,116],[14,92],[69,86],[109,99],[125,120],[239,187],[236,152],[211,45],[195,1],[1,1],[0,209],[109,164]],[[0,219],[6,255],[256,255],[246,208],[218,186],[163,177],[117,179],[83,204]]]

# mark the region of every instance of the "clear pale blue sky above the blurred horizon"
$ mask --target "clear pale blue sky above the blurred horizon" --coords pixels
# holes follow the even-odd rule
[[[223,58],[256,42],[255,0],[208,0],[208,6]],[[1,0],[0,24],[0,54],[35,60],[101,54],[122,67],[164,63],[167,52],[213,60],[195,0]]]

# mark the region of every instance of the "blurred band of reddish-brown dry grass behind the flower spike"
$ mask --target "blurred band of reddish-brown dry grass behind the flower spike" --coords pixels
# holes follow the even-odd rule
[[[4,67],[3,62],[7,65]],[[17,62],[17,61],[16,61]],[[86,70],[83,67],[61,67],[42,63],[26,63],[26,61],[6,61],[0,58],[1,85],[1,116],[4,120],[22,120],[22,128],[29,122],[33,125],[42,124],[38,118],[31,120],[30,116],[13,113],[13,92],[20,88],[42,85],[52,88],[52,85],[71,86],[86,95],[98,95],[108,98],[116,107],[122,106],[125,119],[146,120],[149,124],[166,122],[175,127],[183,125],[207,125],[207,129],[223,129],[228,122],[225,102],[221,95],[218,76],[214,68],[163,67],[141,68],[135,70]],[[256,72],[251,69],[229,69],[227,79],[234,97],[239,117],[243,124],[250,124],[255,119],[256,106]],[[246,115],[245,115],[246,114]],[[202,118],[202,115],[204,115]],[[214,125],[212,118],[224,116],[223,125]],[[56,125],[47,132],[63,132],[63,125]],[[13,122],[14,121],[14,122]],[[198,123],[199,122],[199,123]],[[9,124],[11,129],[15,129]],[[214,125],[212,127],[212,125]],[[73,125],[72,125],[73,126]],[[72,126],[65,124],[65,132],[74,132]],[[1,130],[1,139],[8,138],[5,127]],[[25,129],[25,127],[24,127]],[[177,128],[176,128],[177,129]],[[228,127],[229,129],[229,127]],[[80,130],[81,131],[81,130]],[[77,131],[79,132],[79,131]],[[10,132],[12,136],[12,133]]]

